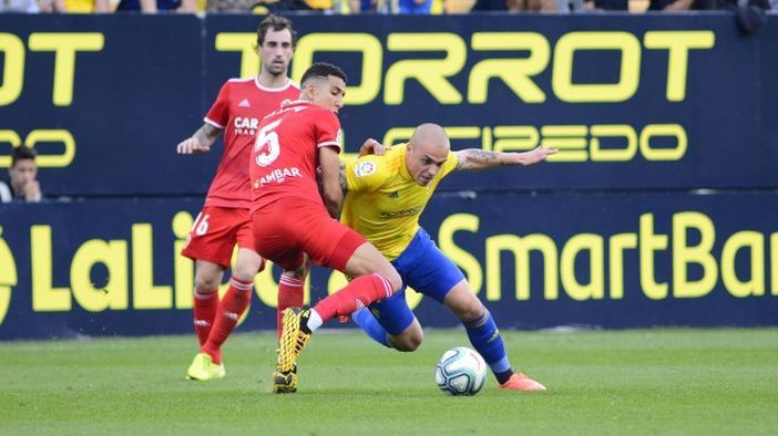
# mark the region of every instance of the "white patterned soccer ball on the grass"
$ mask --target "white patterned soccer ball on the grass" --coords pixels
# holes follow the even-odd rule
[[[487,382],[487,362],[474,350],[453,347],[438,361],[434,381],[449,395],[475,395]]]

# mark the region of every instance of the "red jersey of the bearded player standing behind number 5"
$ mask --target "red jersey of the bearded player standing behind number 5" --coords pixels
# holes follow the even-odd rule
[[[205,206],[227,208],[250,207],[248,159],[262,118],[280,106],[285,100],[299,96],[291,80],[284,87],[270,89],[258,77],[231,79],[218,93],[205,122],[224,129],[224,153],[211,183]]]

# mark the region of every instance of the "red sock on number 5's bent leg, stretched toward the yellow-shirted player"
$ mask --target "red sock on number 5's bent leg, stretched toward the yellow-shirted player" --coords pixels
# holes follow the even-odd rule
[[[316,313],[323,322],[334,316],[350,315],[355,310],[372,304],[393,293],[389,280],[379,273],[358,277],[345,288],[319,301]]]

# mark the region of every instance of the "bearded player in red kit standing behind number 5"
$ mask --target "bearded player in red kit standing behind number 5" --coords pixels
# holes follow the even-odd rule
[[[295,31],[289,20],[265,18],[257,30],[259,74],[227,81],[203,126],[177,147],[178,154],[206,153],[224,133],[222,162],[182,251],[195,261],[194,328],[201,351],[188,367],[191,380],[208,381],[226,375],[222,344],[248,307],[254,276],[264,268],[264,260],[254,248],[248,216],[248,160],[260,120],[283,101],[299,95],[299,87],[287,76],[294,45]],[[237,261],[229,289],[219,301],[218,287],[236,243]],[[279,302],[285,301],[287,307],[303,304],[304,277],[288,274],[283,280]],[[283,309],[279,308],[279,313]]]

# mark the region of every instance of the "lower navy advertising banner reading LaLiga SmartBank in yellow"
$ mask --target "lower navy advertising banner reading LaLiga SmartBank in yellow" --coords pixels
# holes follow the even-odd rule
[[[178,251],[198,207],[0,208],[0,340],[191,332],[193,266]],[[776,325],[776,216],[770,194],[443,194],[422,225],[502,328]],[[275,328],[279,273],[257,276],[243,330]],[[342,284],[315,269],[306,301]],[[408,300],[423,325],[457,324]]]

